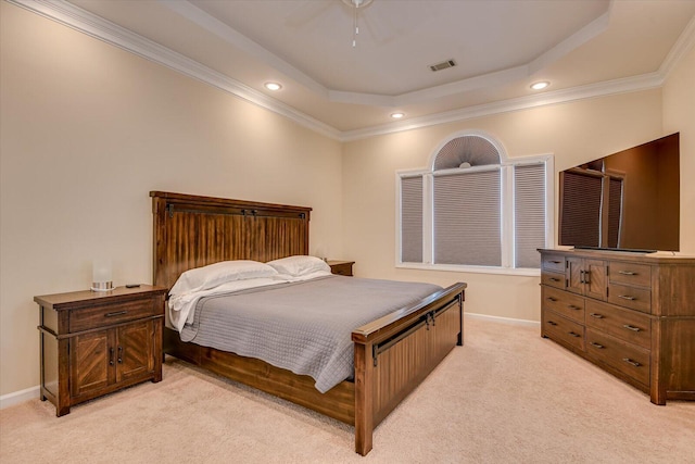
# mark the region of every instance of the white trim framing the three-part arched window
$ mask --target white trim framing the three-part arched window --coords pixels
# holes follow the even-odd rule
[[[479,131],[466,131],[464,135],[478,135]],[[462,134],[457,134],[455,137],[460,137]],[[485,137],[488,138],[488,137]],[[437,154],[441,148],[451,140],[447,139],[434,151]],[[500,143],[494,142],[493,139],[489,139],[500,148]],[[525,164],[538,164],[545,163],[545,248],[552,248],[555,240],[555,156],[553,154],[541,154],[530,156],[517,156],[507,158],[502,148],[501,165],[502,165],[502,196],[506,204],[511,204],[514,198],[514,166]],[[505,154],[503,154],[505,153]],[[395,198],[396,198],[396,230],[395,230],[395,267],[407,269],[420,269],[420,271],[443,271],[443,272],[456,272],[456,273],[471,273],[471,274],[502,274],[502,275],[517,275],[517,276],[540,276],[541,269],[528,268],[528,267],[513,267],[515,262],[514,250],[514,233],[511,225],[514,224],[514,208],[507,208],[502,212],[502,266],[473,266],[473,265],[454,265],[454,264],[434,264],[433,263],[433,214],[432,214],[432,178],[434,175],[459,172],[463,170],[440,170],[437,173],[432,171],[434,156],[430,161],[429,170],[408,170],[396,171],[395,173]],[[481,166],[480,168],[469,167],[470,170],[485,171],[488,167]],[[422,215],[424,215],[424,234],[422,234],[422,263],[404,263],[401,261],[401,181],[402,177],[422,176]],[[507,235],[511,237],[507,238]]]

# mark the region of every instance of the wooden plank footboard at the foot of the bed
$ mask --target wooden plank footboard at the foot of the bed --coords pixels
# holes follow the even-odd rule
[[[355,451],[366,455],[379,423],[456,346],[463,344],[466,284],[396,311],[352,334],[355,342]]]

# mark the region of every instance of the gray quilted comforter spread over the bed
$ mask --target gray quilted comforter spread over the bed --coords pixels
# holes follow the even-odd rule
[[[309,375],[323,393],[353,375],[352,330],[440,289],[327,276],[205,297],[181,339]]]

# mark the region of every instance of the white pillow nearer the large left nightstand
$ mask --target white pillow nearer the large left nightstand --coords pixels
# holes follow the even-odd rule
[[[181,294],[215,288],[232,280],[258,277],[274,277],[278,274],[273,267],[258,261],[220,261],[203,267],[186,271],[172,287],[170,294]]]

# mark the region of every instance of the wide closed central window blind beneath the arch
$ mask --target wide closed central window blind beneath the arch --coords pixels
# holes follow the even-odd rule
[[[434,263],[502,265],[501,170],[433,178]]]

